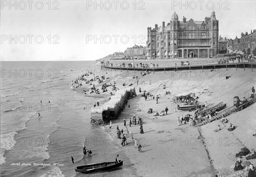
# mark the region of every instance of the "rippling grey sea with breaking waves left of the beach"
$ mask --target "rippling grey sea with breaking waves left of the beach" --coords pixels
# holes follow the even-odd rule
[[[81,74],[100,72],[95,61],[0,64],[1,177],[84,177],[76,166],[120,157],[122,151],[109,128],[90,125],[91,105],[104,98],[86,96],[72,86]],[[83,157],[84,144],[91,157]],[[111,173],[86,176],[134,176],[133,171],[124,165]]]

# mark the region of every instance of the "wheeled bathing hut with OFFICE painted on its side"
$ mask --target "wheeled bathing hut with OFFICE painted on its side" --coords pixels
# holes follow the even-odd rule
[[[102,126],[110,117],[110,108],[108,106],[98,106],[91,109],[91,125]]]

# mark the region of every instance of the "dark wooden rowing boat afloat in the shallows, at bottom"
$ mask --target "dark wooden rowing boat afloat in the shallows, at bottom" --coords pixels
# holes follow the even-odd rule
[[[115,168],[122,167],[123,161],[119,163],[116,162],[103,162],[103,163],[93,163],[85,166],[78,166],[75,168],[76,172],[84,174],[102,173],[106,171],[113,170]]]

